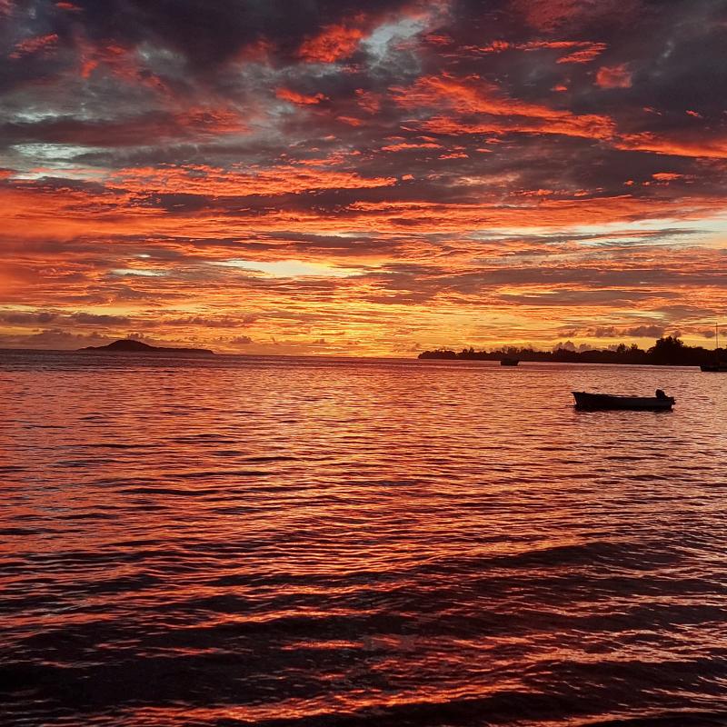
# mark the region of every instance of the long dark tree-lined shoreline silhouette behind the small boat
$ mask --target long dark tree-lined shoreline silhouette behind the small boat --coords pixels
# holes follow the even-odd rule
[[[508,346],[496,351],[475,351],[463,348],[453,351],[438,348],[424,351],[417,358],[445,359],[464,361],[500,361],[501,359],[519,359],[520,361],[553,362],[558,364],[652,364],[672,366],[702,366],[722,361],[727,350],[688,346],[681,338],[665,336],[660,338],[651,348],[644,351],[636,344],[619,344],[615,348],[575,351],[571,348],[559,347],[553,351],[536,351],[533,348],[517,348]]]

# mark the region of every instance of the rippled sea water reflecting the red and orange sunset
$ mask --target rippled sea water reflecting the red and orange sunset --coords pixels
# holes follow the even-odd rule
[[[727,374],[0,352],[0,396],[3,724],[727,723]]]

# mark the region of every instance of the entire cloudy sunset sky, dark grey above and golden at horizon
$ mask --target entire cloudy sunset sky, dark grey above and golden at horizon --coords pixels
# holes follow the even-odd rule
[[[0,0],[0,347],[713,345],[727,0]]]

